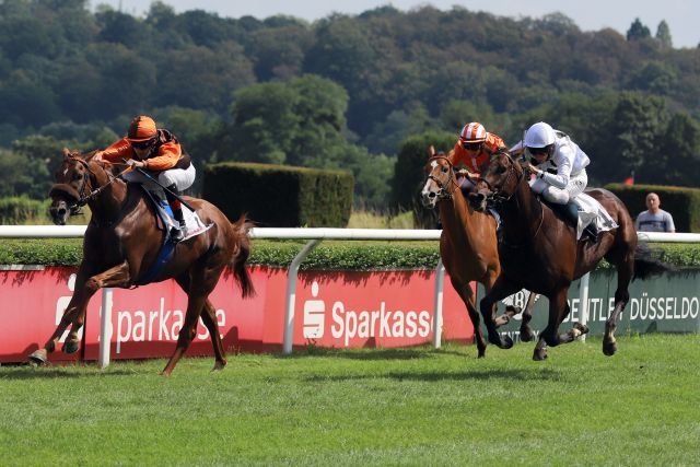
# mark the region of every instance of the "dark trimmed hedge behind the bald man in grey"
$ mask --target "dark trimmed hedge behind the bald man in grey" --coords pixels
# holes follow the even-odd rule
[[[700,232],[700,189],[662,185],[609,184],[606,189],[618,196],[632,218],[646,210],[646,195],[654,191],[661,208],[670,212],[676,232]]]

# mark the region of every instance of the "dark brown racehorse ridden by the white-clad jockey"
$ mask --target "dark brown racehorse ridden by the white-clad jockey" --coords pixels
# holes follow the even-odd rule
[[[586,190],[617,223],[617,227],[603,232],[596,242],[576,241],[576,227],[562,220],[533,192],[525,171],[508,153],[491,156],[481,174],[478,192],[471,194],[470,203],[479,210],[494,207],[503,225],[499,244],[502,275],[491,292],[480,302],[489,341],[500,348],[511,348],[510,337],[501,337],[493,318],[492,304],[525,288],[549,299],[549,319],[540,332],[534,360],[547,358],[546,346],[573,341],[588,331],[576,323],[571,330],[559,334],[559,326],[569,315],[567,293],[571,282],[596,267],[602,258],[617,269],[615,308],[605,323],[603,353],[617,351],[615,329],[617,320],[630,300],[628,285],[635,278],[645,279],[669,270],[668,265],[654,258],[645,244],[638,244],[634,223],[619,198],[608,190]]]

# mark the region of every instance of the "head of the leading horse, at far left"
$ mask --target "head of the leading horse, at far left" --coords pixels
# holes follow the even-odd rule
[[[65,148],[63,161],[54,179],[56,183],[48,194],[51,198],[48,212],[55,224],[65,225],[68,218],[84,203],[85,194],[89,192],[90,168],[85,156]]]

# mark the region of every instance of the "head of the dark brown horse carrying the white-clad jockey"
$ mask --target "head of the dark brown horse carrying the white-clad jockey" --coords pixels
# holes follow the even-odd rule
[[[469,195],[469,203],[477,211],[498,206],[511,199],[523,179],[523,168],[505,151],[491,155],[477,183],[476,192]]]

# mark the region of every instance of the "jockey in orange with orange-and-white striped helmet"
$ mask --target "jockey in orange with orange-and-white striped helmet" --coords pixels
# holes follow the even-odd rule
[[[491,154],[506,149],[508,147],[501,137],[487,132],[481,124],[472,121],[464,126],[455,148],[450,152],[447,159],[453,166],[462,163],[468,167],[467,173],[479,176],[483,164],[489,161]],[[464,175],[462,171],[458,174]],[[475,184],[468,176],[462,176],[458,179],[463,192],[474,190]]]

